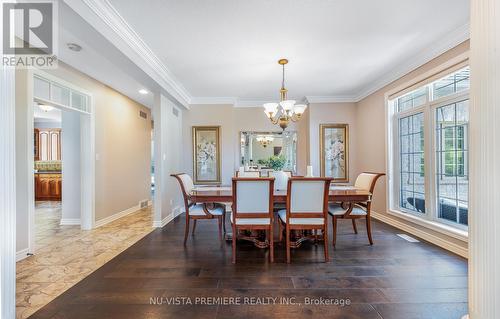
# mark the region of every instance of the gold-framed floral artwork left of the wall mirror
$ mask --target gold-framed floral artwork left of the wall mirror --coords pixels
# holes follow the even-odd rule
[[[193,126],[195,184],[221,183],[220,126]]]

